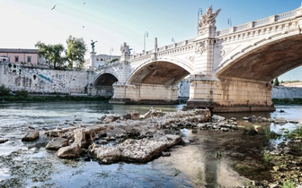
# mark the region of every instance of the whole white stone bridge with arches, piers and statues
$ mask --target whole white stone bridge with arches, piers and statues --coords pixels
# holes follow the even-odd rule
[[[219,11],[200,15],[196,38],[164,47],[155,38],[152,50],[135,56],[124,43],[119,64],[90,73],[89,92],[110,87],[111,103],[176,104],[177,84],[190,76],[187,107],[274,110],[271,81],[302,64],[302,6],[217,31]]]

